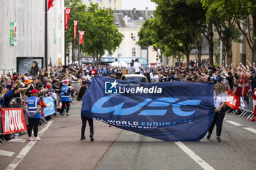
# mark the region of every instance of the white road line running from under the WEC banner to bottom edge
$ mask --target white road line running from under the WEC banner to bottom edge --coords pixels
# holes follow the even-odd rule
[[[214,170],[214,168],[212,166],[210,166],[208,163],[206,163],[206,161],[203,161],[202,158],[200,158],[198,155],[196,155],[195,152],[190,150],[189,147],[187,147],[185,144],[183,144],[182,142],[174,142],[174,143],[177,144],[178,147],[181,148],[181,150],[183,150],[185,153],[187,153],[187,155],[189,155],[189,157],[192,158],[192,160],[194,160],[196,163],[198,163],[203,169]]]

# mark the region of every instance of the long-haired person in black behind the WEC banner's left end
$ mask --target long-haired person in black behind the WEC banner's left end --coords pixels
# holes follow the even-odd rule
[[[86,90],[87,90],[86,85],[83,85],[79,90],[77,100],[80,101],[81,104],[83,103],[83,96],[86,93]],[[93,137],[94,136],[94,122],[93,122],[93,119],[83,116],[82,112],[81,112],[81,119],[82,119],[83,125],[82,125],[82,128],[81,128],[81,139],[80,140],[86,139],[86,136],[84,134],[85,134],[85,131],[86,131],[86,120],[87,120],[88,123],[89,123],[89,126],[90,126],[90,138],[91,138],[90,140],[94,141],[94,137]]]

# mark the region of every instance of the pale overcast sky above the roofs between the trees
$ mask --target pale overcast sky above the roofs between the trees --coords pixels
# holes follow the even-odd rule
[[[148,10],[156,9],[156,4],[150,0],[123,0],[123,9],[136,8],[138,10],[145,10],[148,7]]]

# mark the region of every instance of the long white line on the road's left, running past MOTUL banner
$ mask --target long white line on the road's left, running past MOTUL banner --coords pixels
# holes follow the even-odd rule
[[[49,121],[48,124],[45,125],[45,128],[42,128],[42,130],[39,131],[38,136],[41,136],[45,131],[47,131],[47,129],[50,127],[51,123],[53,123],[53,121]],[[36,143],[37,143],[37,141],[31,141],[28,144],[26,144],[26,146],[23,147],[23,149],[20,151],[20,153],[17,155],[17,157],[12,161],[12,163],[10,163],[10,165],[7,166],[6,170],[15,169],[18,166],[18,164],[23,160],[23,158],[26,156],[26,154],[29,152],[29,150]]]

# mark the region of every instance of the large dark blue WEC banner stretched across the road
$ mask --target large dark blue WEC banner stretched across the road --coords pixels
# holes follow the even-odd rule
[[[214,120],[214,85],[95,77],[82,114],[165,141],[200,141]]]

